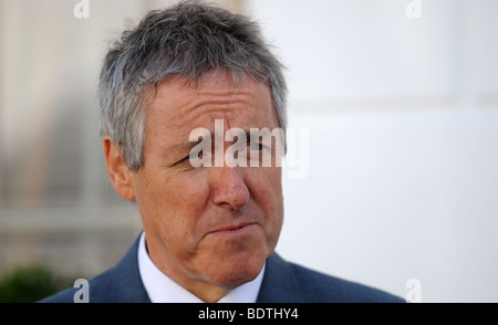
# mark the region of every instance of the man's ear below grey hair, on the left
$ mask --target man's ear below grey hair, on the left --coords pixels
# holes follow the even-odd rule
[[[135,199],[132,184],[132,170],[126,166],[116,145],[108,136],[104,136],[104,154],[107,164],[107,172],[116,192],[125,200]]]

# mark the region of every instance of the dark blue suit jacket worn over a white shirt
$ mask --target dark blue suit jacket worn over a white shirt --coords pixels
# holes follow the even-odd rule
[[[138,239],[114,268],[90,280],[91,303],[149,303],[138,271]],[[79,287],[49,296],[43,303],[72,303]],[[292,264],[273,253],[267,260],[258,303],[402,303],[400,297],[362,284]]]

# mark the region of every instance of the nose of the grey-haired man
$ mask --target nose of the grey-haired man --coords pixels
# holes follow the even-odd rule
[[[211,168],[212,202],[230,210],[240,210],[249,202],[249,189],[240,167]]]

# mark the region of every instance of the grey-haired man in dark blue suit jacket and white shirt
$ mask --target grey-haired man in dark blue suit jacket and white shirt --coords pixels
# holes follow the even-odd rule
[[[111,182],[144,231],[90,302],[402,302],[273,252],[283,138],[251,133],[284,134],[286,82],[247,18],[191,1],[149,12],[108,51],[100,104]]]

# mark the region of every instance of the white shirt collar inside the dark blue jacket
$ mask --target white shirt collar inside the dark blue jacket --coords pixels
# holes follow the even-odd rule
[[[264,266],[251,282],[237,286],[218,303],[255,303],[264,274]],[[145,231],[138,243],[138,270],[145,291],[153,303],[204,303],[199,297],[169,279],[151,260],[145,245]]]

